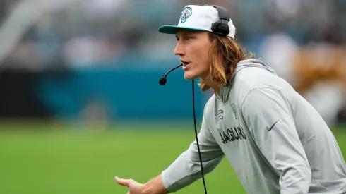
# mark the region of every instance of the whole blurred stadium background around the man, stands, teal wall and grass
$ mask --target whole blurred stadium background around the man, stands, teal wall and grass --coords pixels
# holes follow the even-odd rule
[[[126,193],[194,139],[173,36],[186,4],[229,9],[237,42],[321,113],[346,156],[345,0],[1,0],[0,193]],[[198,92],[201,120],[210,92]],[[198,123],[198,126],[200,124]],[[227,161],[209,193],[244,193]],[[178,193],[203,193],[201,181]]]

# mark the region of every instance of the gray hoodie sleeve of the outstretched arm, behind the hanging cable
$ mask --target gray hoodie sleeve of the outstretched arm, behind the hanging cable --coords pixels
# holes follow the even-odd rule
[[[208,174],[220,164],[224,154],[206,126],[203,118],[201,131],[198,133],[201,150],[203,173]],[[170,192],[189,186],[201,175],[201,162],[196,140],[165,171],[162,171],[162,183]]]

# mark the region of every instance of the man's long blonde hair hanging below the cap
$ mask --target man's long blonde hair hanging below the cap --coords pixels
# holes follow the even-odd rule
[[[211,41],[209,49],[210,78],[218,85],[229,85],[229,78],[234,73],[237,63],[244,59],[255,59],[256,55],[250,53],[248,57],[232,37],[217,35],[209,32]],[[198,83],[201,91],[205,92],[210,87],[201,79]]]

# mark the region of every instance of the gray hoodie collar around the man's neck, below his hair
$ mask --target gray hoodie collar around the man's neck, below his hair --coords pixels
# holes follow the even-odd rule
[[[223,103],[227,103],[229,100],[229,94],[232,89],[235,75],[237,75],[237,73],[239,73],[239,71],[243,70],[244,68],[250,68],[250,67],[263,68],[266,71],[269,71],[270,73],[273,73],[274,75],[276,75],[273,68],[270,68],[265,63],[263,63],[263,61],[260,61],[258,59],[245,59],[243,61],[239,61],[239,63],[237,63],[237,68],[235,69],[234,73],[232,74],[229,80],[229,85],[221,86],[220,97],[217,96],[217,94],[215,93],[215,96],[217,97],[217,99],[219,99]]]

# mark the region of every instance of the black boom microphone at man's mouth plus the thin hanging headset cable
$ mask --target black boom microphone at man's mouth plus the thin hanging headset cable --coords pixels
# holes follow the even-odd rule
[[[179,66],[176,66],[175,68],[172,68],[171,70],[167,71],[165,75],[162,76],[159,80],[160,85],[165,85],[167,83],[167,75],[171,71],[174,71],[174,69],[179,68],[184,64],[181,64]],[[199,149],[199,143],[198,143],[198,133],[197,133],[197,128],[196,128],[196,111],[195,111],[195,87],[194,87],[194,81],[192,80],[192,109],[193,109],[193,122],[195,126],[195,135],[196,135],[196,143],[197,143],[197,149],[198,149],[198,155],[199,155],[199,161],[201,164],[201,174],[202,174],[202,179],[203,179],[203,186],[204,186],[204,192],[207,194],[207,187],[205,186],[205,178],[204,178],[204,172],[203,172],[203,164],[202,164],[202,157],[201,157],[201,150]]]

